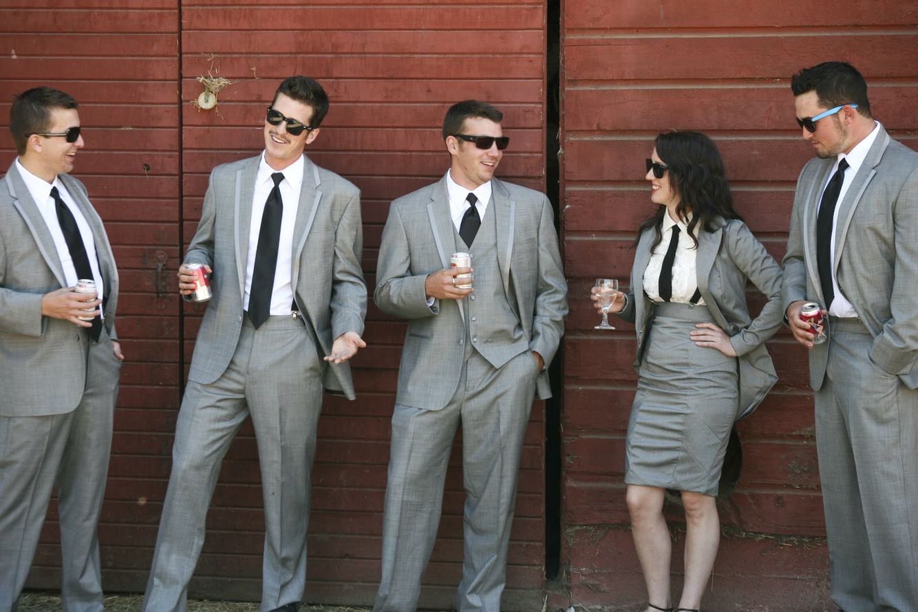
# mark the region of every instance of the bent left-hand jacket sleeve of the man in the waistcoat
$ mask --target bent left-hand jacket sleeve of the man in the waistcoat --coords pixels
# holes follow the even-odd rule
[[[411,271],[411,247],[400,207],[389,206],[383,229],[379,260],[376,264],[376,288],[373,301],[388,315],[401,318],[432,317],[440,312],[439,300],[428,306],[424,282],[428,273]]]

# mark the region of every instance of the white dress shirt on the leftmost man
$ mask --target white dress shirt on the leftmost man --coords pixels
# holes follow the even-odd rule
[[[39,178],[32,172],[28,172],[28,170],[19,163],[19,158],[16,159],[16,167],[19,171],[19,175],[22,176],[22,182],[26,184],[28,194],[32,196],[32,201],[35,202],[35,206],[39,207],[41,218],[45,220],[45,225],[48,226],[51,238],[54,239],[54,248],[57,250],[58,259],[61,260],[64,280],[67,282],[68,287],[73,287],[80,278],[76,273],[76,267],[73,266],[73,259],[71,259],[70,256],[70,248],[67,246],[67,240],[63,237],[61,222],[58,221],[57,217],[57,205],[54,202],[54,198],[51,197],[51,188],[58,188],[58,193],[61,195],[64,206],[70,209],[70,212],[73,213],[73,218],[76,219],[76,227],[80,230],[80,238],[83,239],[86,257],[89,258],[89,267],[93,271],[95,292],[99,295],[99,299],[102,299],[105,285],[102,282],[102,273],[99,272],[99,259],[95,254],[93,230],[89,227],[89,223],[86,221],[86,217],[83,216],[80,207],[76,206],[73,196],[67,192],[67,188],[63,186],[61,180],[57,176],[54,177],[52,183],[48,183],[48,181]],[[101,310],[102,309],[99,308],[100,312]]]

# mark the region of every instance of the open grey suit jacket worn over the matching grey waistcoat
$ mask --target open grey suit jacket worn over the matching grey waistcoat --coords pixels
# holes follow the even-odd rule
[[[552,207],[543,194],[520,185],[491,181],[498,236],[498,265],[510,308],[519,315],[532,351],[552,362],[564,333],[567,284],[558,253]],[[453,220],[445,176],[389,206],[376,268],[376,306],[409,319],[398,370],[396,401],[440,409],[453,396],[463,362],[465,317],[462,302],[436,300],[427,306],[424,281],[450,265]],[[513,291],[509,289],[512,285]],[[548,373],[536,383],[538,396],[551,397]]]

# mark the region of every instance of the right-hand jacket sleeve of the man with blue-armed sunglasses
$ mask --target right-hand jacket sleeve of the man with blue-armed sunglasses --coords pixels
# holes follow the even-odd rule
[[[890,295],[890,319],[873,340],[870,360],[890,374],[912,370],[918,353],[918,168],[905,180],[892,206],[896,260]]]

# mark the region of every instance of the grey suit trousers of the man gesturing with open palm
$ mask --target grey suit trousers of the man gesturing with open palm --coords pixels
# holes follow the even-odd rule
[[[226,372],[213,384],[189,381],[143,610],[185,610],[220,463],[250,415],[264,502],[262,610],[302,601],[321,399],[319,356],[291,317],[269,317],[258,329],[246,318]]]

